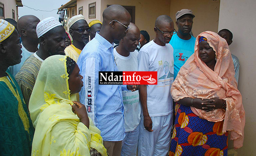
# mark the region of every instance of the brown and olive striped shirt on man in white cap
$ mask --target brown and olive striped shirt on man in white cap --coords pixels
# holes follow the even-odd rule
[[[26,59],[26,61],[20,68],[20,71],[15,76],[15,79],[20,86],[20,90],[23,94],[23,98],[28,108],[29,99],[32,94],[35,80],[38,76],[42,61],[43,60],[39,59],[36,53],[34,53],[34,55],[31,55],[29,58]]]

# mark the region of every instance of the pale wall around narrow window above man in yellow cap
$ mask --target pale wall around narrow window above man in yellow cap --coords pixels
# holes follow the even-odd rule
[[[96,18],[89,18],[89,4],[96,2]],[[87,21],[90,23],[92,20],[100,20],[102,21],[102,14],[100,12],[100,3],[101,0],[77,0],[77,14],[79,13],[79,8],[83,6],[83,15]]]

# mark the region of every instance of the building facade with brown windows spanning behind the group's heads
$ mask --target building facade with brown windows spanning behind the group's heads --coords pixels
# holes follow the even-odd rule
[[[218,31],[220,0],[160,0],[157,3],[155,0],[70,0],[59,9],[67,9],[67,20],[73,15],[83,14],[89,23],[102,21],[104,9],[111,4],[124,6],[130,12],[132,22],[140,30],[146,30],[150,38],[154,38],[154,22],[158,16],[167,14],[175,23],[175,14],[181,9],[191,9],[195,14],[192,28],[195,36],[206,30]]]

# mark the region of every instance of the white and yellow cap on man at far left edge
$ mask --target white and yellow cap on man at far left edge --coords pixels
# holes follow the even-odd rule
[[[15,27],[6,20],[0,19],[0,43],[14,32]]]

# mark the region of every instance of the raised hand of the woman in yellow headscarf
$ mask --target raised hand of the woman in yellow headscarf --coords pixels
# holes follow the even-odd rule
[[[80,121],[89,128],[90,121],[87,115],[87,110],[83,104],[78,101],[72,101],[72,111],[79,117]]]

